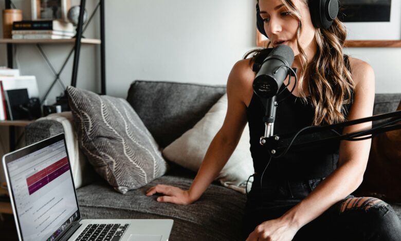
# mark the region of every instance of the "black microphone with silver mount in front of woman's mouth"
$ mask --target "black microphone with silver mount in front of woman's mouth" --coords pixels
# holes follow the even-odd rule
[[[276,117],[276,95],[288,75],[288,70],[294,62],[294,51],[286,46],[279,45],[263,61],[259,72],[253,81],[253,92],[260,98],[266,108],[263,122],[265,123],[265,135],[261,137],[263,145],[265,137],[273,135]]]

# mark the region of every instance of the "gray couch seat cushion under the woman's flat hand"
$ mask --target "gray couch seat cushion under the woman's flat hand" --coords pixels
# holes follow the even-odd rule
[[[105,184],[77,190],[84,218],[171,218],[174,225],[169,240],[241,240],[241,224],[246,196],[212,184],[197,202],[182,206],[158,203],[157,195],[145,192],[157,184],[188,189],[193,176],[162,176],[150,185],[124,196]]]

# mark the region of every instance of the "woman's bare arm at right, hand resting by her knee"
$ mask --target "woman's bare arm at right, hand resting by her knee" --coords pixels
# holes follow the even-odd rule
[[[372,115],[375,93],[372,67],[358,59],[352,59],[351,65],[356,87],[354,102],[348,115],[349,120]],[[353,132],[369,125],[369,123],[364,123],[349,126],[344,128],[343,132]],[[291,240],[302,226],[355,191],[362,183],[363,173],[368,163],[370,145],[370,139],[358,142],[342,140],[338,168],[283,216],[259,225],[249,239],[253,240],[254,236],[269,236],[272,237],[271,240],[276,240],[275,237],[286,236],[287,238],[280,240]]]

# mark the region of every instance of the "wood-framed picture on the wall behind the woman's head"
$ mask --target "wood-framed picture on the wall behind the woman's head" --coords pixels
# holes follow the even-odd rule
[[[341,0],[338,18],[347,27],[347,47],[401,47],[399,0]],[[258,30],[256,39],[257,46],[266,46]]]

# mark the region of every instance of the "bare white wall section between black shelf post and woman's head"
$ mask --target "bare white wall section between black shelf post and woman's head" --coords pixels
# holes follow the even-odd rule
[[[106,9],[112,95],[125,96],[134,79],[225,84],[232,65],[254,48],[251,1],[126,0]]]

